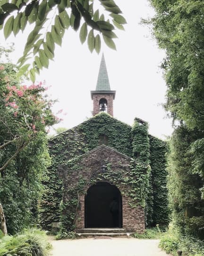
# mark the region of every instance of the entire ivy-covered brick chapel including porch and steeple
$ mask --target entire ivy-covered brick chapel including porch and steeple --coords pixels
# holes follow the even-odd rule
[[[40,202],[44,229],[143,233],[146,226],[168,224],[166,143],[149,135],[142,119],[133,127],[114,119],[115,96],[102,55],[91,91],[93,117],[49,143],[52,164]]]

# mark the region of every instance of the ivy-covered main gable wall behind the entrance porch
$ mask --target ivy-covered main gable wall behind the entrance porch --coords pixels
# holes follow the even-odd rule
[[[153,145],[154,142],[155,146]],[[140,119],[135,120],[132,128],[106,113],[100,113],[75,128],[50,139],[52,163],[44,181],[45,192],[40,201],[42,228],[51,230],[55,223],[60,221],[62,176],[59,173],[59,165],[67,164],[70,159],[77,155],[83,155],[102,144],[133,157],[145,165],[149,165],[149,170],[151,170],[151,165],[152,171],[148,172],[148,183],[145,185],[147,189],[144,190],[145,211],[147,212],[146,224],[160,224],[160,219],[162,223],[168,222],[167,210],[160,212],[160,219],[155,216],[159,211],[156,208],[157,204],[163,205],[163,207],[167,205],[167,195],[166,190],[160,188],[160,185],[163,187],[166,185],[163,183],[162,178],[153,178],[154,175],[159,175],[159,177],[166,175],[164,171],[166,163],[164,156],[165,143],[160,139],[149,136],[147,123],[141,124]],[[152,184],[153,181],[154,183]],[[157,195],[157,189],[161,193],[160,196]],[[159,206],[158,209],[161,208]],[[150,221],[148,216],[151,216]],[[163,221],[165,219],[166,222]]]

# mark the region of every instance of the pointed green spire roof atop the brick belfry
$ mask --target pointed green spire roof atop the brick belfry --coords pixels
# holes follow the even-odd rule
[[[106,69],[105,58],[103,54],[96,84],[96,91],[110,91],[108,72]]]

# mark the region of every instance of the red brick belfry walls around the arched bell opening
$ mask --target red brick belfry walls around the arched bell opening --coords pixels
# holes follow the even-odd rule
[[[99,101],[104,98],[107,101],[107,112],[113,117],[113,94],[93,94],[93,116],[99,113]]]

